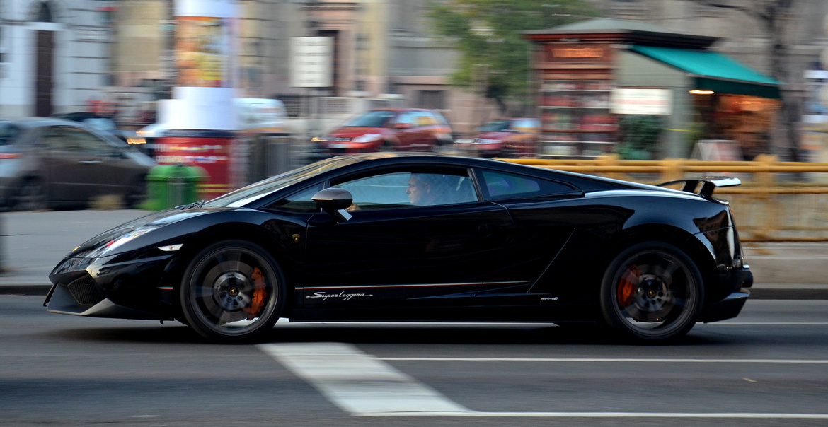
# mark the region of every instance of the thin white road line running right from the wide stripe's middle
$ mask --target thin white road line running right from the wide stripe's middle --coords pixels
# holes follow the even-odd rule
[[[809,359],[656,359],[597,357],[377,357],[389,362],[578,362],[578,363],[790,363],[826,364],[828,360]]]

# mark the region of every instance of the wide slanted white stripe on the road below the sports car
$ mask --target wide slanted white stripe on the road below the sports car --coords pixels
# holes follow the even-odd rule
[[[471,412],[350,344],[279,343],[258,347],[353,415]]]

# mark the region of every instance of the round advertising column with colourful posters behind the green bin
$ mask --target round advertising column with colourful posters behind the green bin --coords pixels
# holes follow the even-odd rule
[[[235,13],[228,0],[176,0],[176,86],[172,99],[158,105],[159,122],[169,131],[157,141],[156,161],[204,168],[204,199],[233,190]]]

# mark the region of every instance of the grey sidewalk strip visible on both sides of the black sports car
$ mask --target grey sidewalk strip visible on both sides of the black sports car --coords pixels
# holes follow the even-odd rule
[[[0,295],[46,295],[52,268],[72,248],[151,211],[70,210],[0,213]],[[750,243],[756,299],[828,300],[828,243]]]

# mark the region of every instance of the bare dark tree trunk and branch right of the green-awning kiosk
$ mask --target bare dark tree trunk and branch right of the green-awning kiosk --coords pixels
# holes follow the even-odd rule
[[[785,42],[785,26],[788,14],[797,0],[687,0],[709,7],[721,7],[739,11],[752,17],[763,28],[770,39],[768,61],[771,77],[783,84],[791,83],[792,73],[788,69],[788,46]],[[802,118],[802,105],[790,88],[782,86],[782,124],[785,135],[791,143],[790,157],[799,161],[799,133],[797,122]]]

